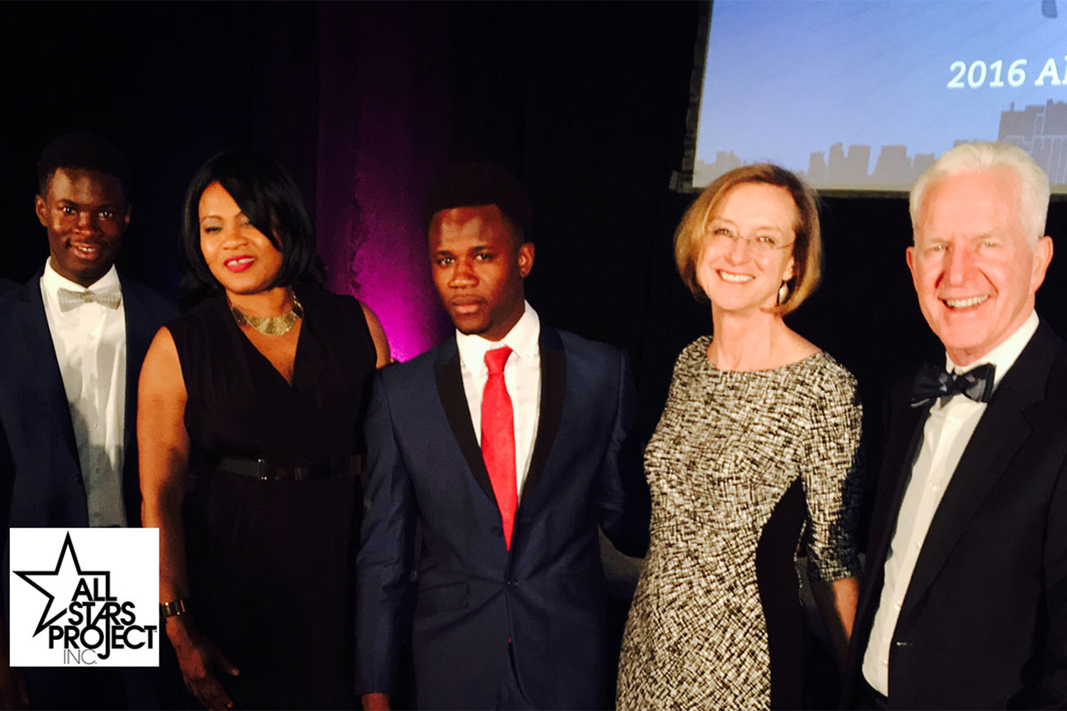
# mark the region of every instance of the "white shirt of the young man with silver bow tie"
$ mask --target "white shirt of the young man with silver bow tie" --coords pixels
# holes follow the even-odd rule
[[[118,286],[115,268],[89,287]],[[41,277],[45,317],[63,376],[78,462],[92,527],[126,526],[123,504],[123,449],[126,418],[126,313],[94,302],[63,311],[60,289],[86,291],[60,276],[51,260]]]

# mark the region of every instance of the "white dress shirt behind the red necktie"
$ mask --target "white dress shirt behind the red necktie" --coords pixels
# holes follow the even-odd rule
[[[541,414],[541,320],[537,311],[526,303],[522,318],[508,335],[499,341],[490,341],[481,336],[468,336],[456,332],[456,345],[460,351],[460,370],[463,373],[463,391],[474,433],[481,446],[481,397],[489,379],[485,353],[507,345],[512,350],[504,366],[504,384],[511,398],[511,410],[515,419],[515,491],[520,499],[523,484],[534,454],[534,438]]]

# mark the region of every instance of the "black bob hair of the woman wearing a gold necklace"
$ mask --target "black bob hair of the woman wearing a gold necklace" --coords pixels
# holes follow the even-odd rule
[[[212,182],[229,193],[249,222],[282,253],[282,268],[271,288],[321,284],[315,225],[292,177],[270,156],[254,150],[226,150],[204,163],[186,191],[181,209],[185,268],[181,286],[187,296],[221,288],[204,261],[200,245],[200,198]]]

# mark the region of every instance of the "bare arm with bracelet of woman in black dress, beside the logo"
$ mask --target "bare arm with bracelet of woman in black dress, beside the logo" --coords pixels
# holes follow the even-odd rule
[[[174,338],[160,328],[141,367],[137,434],[141,466],[141,520],[159,529],[159,597],[161,602],[189,598],[185,527],[181,506],[189,471],[189,434],[185,425],[186,385]],[[237,675],[188,614],[168,617],[166,635],[174,645],[186,685],[209,709],[228,709],[233,701],[214,676],[217,669]]]

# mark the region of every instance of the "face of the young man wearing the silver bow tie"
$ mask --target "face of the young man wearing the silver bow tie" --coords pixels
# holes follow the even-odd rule
[[[34,208],[60,276],[89,287],[108,273],[130,221],[118,178],[99,171],[57,168]]]

